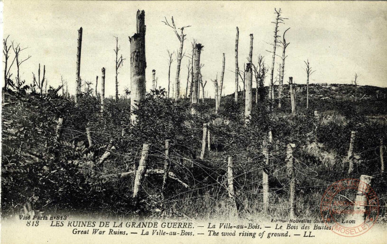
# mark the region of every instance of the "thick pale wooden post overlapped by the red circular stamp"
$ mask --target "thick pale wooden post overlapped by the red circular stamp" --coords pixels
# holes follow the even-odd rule
[[[351,220],[355,220],[355,223],[363,223],[366,220],[367,205],[369,205],[369,195],[371,189],[372,176],[361,175],[356,192],[355,201],[353,204],[353,214]]]

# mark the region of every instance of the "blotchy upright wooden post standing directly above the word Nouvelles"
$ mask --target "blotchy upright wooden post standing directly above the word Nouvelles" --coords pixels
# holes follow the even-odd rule
[[[289,143],[286,148],[287,174],[289,178],[289,218],[293,219],[295,214],[295,173],[294,173],[294,158],[293,148],[295,144]]]

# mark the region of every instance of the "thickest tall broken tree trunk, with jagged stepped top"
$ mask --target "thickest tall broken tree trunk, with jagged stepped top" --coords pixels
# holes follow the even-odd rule
[[[137,33],[129,37],[130,42],[130,90],[132,125],[136,124],[137,115],[134,111],[145,99],[145,12],[137,10]]]

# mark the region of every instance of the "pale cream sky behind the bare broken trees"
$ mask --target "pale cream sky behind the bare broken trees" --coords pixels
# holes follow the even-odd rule
[[[191,42],[196,39],[204,48],[200,63],[205,91],[214,96],[211,79],[220,76],[222,55],[225,53],[224,94],[232,94],[235,74],[235,35],[239,27],[239,64],[247,63],[250,37],[254,35],[253,63],[258,55],[272,64],[275,20],[274,9],[281,8],[282,17],[288,18],[279,26],[279,35],[285,29],[288,57],[285,78],[293,77],[296,83],[306,83],[304,60],[309,59],[313,70],[310,83],[350,84],[354,74],[360,85],[387,86],[387,2],[301,2],[301,1],[13,1],[5,0],[3,9],[3,36],[21,47],[21,57],[31,55],[20,68],[21,79],[32,83],[38,66],[46,66],[48,84],[57,86],[61,75],[68,82],[70,93],[76,87],[76,53],[78,29],[82,26],[82,55],[80,76],[95,82],[106,68],[106,96],[114,95],[115,38],[118,37],[124,66],[118,74],[119,92],[130,88],[129,36],[136,32],[136,11],[145,11],[146,25],[146,87],[151,88],[152,70],[156,70],[158,85],[168,84],[167,50],[177,52],[179,41],[172,29],[162,21],[173,16],[177,27],[185,29],[186,54],[191,52]],[[282,48],[277,48],[282,54]],[[11,55],[13,57],[13,54]],[[4,57],[3,57],[4,58]],[[280,58],[276,56],[275,70]],[[188,57],[183,57],[181,89],[185,94]],[[15,65],[14,65],[15,66]],[[16,68],[16,67],[13,67]],[[4,67],[2,67],[4,70]],[[16,74],[16,70],[12,72]],[[171,87],[175,79],[176,60],[171,67]],[[276,73],[275,73],[276,75]],[[269,83],[268,73],[265,85]],[[4,83],[4,77],[2,77]],[[100,91],[101,78],[98,82]],[[95,86],[95,83],[93,87]],[[255,87],[255,82],[253,84]],[[172,88],[171,88],[172,89]]]

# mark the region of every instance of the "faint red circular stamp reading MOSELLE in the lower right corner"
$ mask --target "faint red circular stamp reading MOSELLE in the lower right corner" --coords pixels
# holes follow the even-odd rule
[[[370,186],[372,177],[342,179],[331,184],[321,198],[320,214],[330,230],[354,237],[372,228],[379,215],[379,199]]]

